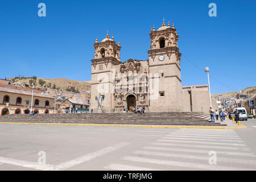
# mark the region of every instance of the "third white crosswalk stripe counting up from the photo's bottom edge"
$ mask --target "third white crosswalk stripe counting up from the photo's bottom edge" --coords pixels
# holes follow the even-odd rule
[[[152,155],[152,156],[166,156],[171,158],[183,158],[183,159],[199,159],[199,160],[209,160],[209,155],[185,155],[185,154],[170,154],[163,152],[150,152],[150,151],[135,151],[134,154]],[[217,163],[238,163],[238,164],[253,164],[256,165],[256,160],[246,160],[246,159],[232,159],[232,158],[220,158],[217,154]]]

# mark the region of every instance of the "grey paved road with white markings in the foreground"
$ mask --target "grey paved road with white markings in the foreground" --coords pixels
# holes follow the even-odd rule
[[[0,170],[255,170],[256,119],[242,124],[248,129],[0,124]]]

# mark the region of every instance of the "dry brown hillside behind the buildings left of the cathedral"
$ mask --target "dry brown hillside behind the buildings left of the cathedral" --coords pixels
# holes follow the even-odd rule
[[[12,78],[10,78],[11,80]],[[27,84],[30,85],[31,78],[22,79],[22,80],[16,80],[13,82],[14,84]],[[43,80],[46,83],[44,85],[47,85],[47,87],[51,87],[55,84],[56,88],[65,90],[68,87],[75,86],[76,89],[78,89],[80,92],[84,92],[84,90],[90,90],[90,81],[76,81],[76,80],[68,80],[65,78],[36,78],[36,88],[40,88],[39,80]],[[50,84],[49,84],[50,83]],[[49,86],[51,85],[51,86]]]

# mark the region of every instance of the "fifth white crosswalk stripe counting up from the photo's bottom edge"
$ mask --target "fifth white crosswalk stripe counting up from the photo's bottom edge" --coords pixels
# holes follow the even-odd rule
[[[151,143],[157,146],[177,146],[177,147],[195,147],[195,148],[213,148],[213,149],[222,149],[222,150],[242,150],[242,151],[250,151],[249,148],[246,147],[225,147],[225,146],[207,146],[207,145],[199,145],[199,144],[179,144],[179,143]]]

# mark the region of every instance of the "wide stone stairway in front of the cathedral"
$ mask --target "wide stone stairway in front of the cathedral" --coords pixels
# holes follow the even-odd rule
[[[0,117],[0,122],[226,126],[220,122],[209,121],[209,115],[196,112],[12,114]]]

